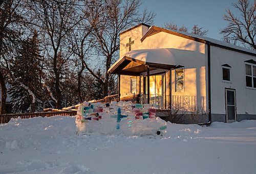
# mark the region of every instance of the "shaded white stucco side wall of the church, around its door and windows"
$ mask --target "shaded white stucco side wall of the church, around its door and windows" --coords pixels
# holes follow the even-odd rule
[[[211,53],[211,113],[226,114],[225,88],[236,90],[237,114],[256,114],[256,89],[246,88],[245,62],[256,57],[219,47],[210,47]],[[222,64],[229,64],[230,83],[222,80]]]

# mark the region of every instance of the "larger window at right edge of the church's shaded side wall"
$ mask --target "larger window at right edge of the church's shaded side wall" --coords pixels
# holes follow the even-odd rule
[[[256,88],[256,65],[245,64],[245,80],[247,87]]]

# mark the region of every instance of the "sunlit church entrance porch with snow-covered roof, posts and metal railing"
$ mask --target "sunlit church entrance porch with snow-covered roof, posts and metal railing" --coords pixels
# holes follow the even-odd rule
[[[109,73],[118,75],[117,100],[134,95],[137,96],[134,101],[154,104],[160,109],[178,107],[195,111],[200,107],[206,112],[206,96],[194,92],[197,86],[184,93],[184,67],[177,60],[186,60],[190,56],[190,51],[177,49],[126,53],[109,70]]]

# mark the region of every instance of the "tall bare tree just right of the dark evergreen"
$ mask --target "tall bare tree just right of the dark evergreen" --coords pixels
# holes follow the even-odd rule
[[[61,108],[60,78],[64,64],[71,56],[68,46],[68,34],[80,22],[78,0],[35,0],[31,9],[40,27],[39,33],[44,39],[45,49],[52,62],[54,73],[54,90],[56,95],[56,107]],[[62,51],[63,61],[58,61],[58,53]]]

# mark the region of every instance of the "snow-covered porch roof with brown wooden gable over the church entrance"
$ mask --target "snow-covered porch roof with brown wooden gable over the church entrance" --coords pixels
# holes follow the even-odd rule
[[[110,74],[134,75],[146,72],[147,67],[151,70],[179,68],[181,62],[191,58],[193,51],[173,48],[142,49],[127,52],[119,58],[109,69]]]

